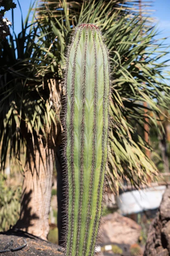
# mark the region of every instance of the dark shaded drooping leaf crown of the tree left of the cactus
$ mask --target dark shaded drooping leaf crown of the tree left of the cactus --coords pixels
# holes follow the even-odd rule
[[[31,10],[32,6],[29,12]],[[54,142],[59,122],[60,103],[56,92],[59,85],[52,80],[58,75],[54,73],[48,77],[48,65],[53,67],[54,63],[51,64],[49,58],[43,59],[45,52],[43,41],[38,41],[38,24],[28,25],[26,17],[22,27],[18,35],[14,33],[13,37],[10,35],[9,39],[0,42],[1,169],[5,168],[8,148],[10,156],[15,154],[20,160],[21,146],[26,138],[34,140],[34,136],[38,136],[45,143],[51,136]]]

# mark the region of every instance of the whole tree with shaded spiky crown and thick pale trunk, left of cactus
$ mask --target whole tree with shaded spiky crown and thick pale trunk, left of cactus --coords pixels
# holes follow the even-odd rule
[[[26,149],[20,219],[16,227],[46,239],[55,137],[59,133],[57,113],[61,104],[59,85],[55,83],[59,76],[54,73],[48,77],[49,60],[41,49],[43,43],[37,41],[38,25],[28,25],[28,17],[22,25],[18,36],[10,35],[1,42],[1,169],[5,167],[8,149],[19,163],[22,146]],[[51,82],[53,77],[55,81]]]

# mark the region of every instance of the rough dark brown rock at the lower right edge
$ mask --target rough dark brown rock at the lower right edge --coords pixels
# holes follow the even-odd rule
[[[163,195],[159,211],[150,224],[144,256],[170,255],[170,187]]]

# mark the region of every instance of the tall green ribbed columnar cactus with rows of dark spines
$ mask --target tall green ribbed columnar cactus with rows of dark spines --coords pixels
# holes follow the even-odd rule
[[[68,223],[65,256],[92,256],[107,164],[109,63],[99,29],[81,24],[65,72],[65,162]]]

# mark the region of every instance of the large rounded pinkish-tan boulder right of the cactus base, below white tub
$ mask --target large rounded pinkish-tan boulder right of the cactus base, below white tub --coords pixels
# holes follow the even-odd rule
[[[135,244],[140,232],[141,227],[135,221],[114,212],[102,217],[99,237],[101,244]]]

